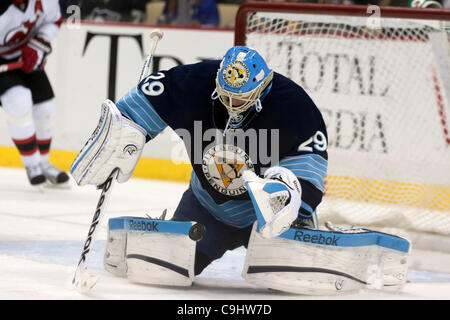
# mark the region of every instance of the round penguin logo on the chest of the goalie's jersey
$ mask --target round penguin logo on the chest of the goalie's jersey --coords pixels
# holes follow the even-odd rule
[[[203,173],[218,192],[227,196],[238,196],[247,189],[242,181],[242,173],[252,170],[250,157],[239,147],[223,144],[215,145],[203,156]]]

